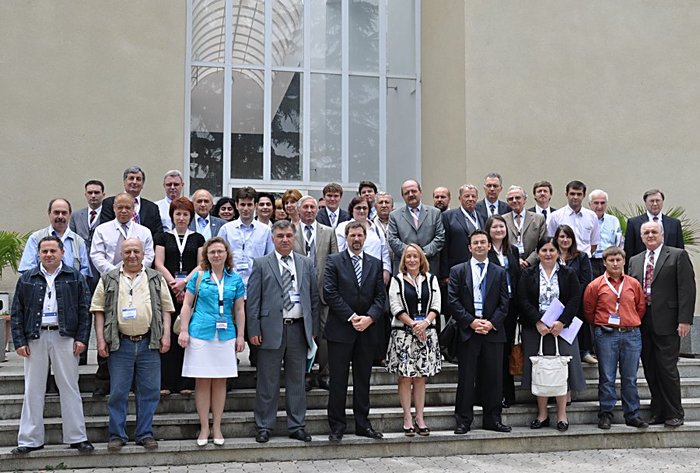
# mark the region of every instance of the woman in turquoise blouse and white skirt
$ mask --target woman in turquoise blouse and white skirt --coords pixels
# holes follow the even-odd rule
[[[194,399],[200,423],[197,445],[203,447],[209,439],[210,410],[214,445],[224,444],[221,417],[226,379],[238,376],[236,352],[244,347],[245,287],[233,271],[231,250],[220,237],[209,239],[202,247],[201,267],[203,273],[192,274],[187,283],[178,343],[185,349],[182,376],[196,378]]]

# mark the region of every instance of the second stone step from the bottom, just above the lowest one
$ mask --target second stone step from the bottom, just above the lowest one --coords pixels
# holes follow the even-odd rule
[[[700,399],[684,399],[685,418],[688,421],[700,421]],[[648,417],[649,401],[642,401],[642,416]],[[553,415],[553,408],[550,408]],[[535,417],[535,405],[515,405],[503,412],[503,421],[513,426],[527,426]],[[571,424],[596,424],[598,403],[594,401],[574,402],[568,407],[567,413]],[[352,411],[348,410],[348,431],[354,427]],[[434,430],[449,430],[454,428],[453,405],[431,406],[425,409],[426,424]],[[401,430],[403,414],[400,408],[373,408],[370,413],[372,425],[380,431],[397,432]],[[128,431],[132,433],[135,417],[128,416]],[[615,422],[622,422],[621,407],[615,412]],[[88,438],[92,441],[106,441],[108,438],[107,416],[86,416],[85,423]],[[473,427],[481,426],[481,409],[475,408]],[[16,445],[19,419],[0,421],[0,447]],[[306,428],[310,434],[324,436],[328,434],[328,418],[326,409],[309,409],[306,415]],[[195,413],[175,413],[157,415],[153,421],[156,437],[163,440],[194,439],[199,431],[199,420]],[[52,417],[45,419],[46,442],[58,444],[61,442],[61,419]],[[223,434],[226,438],[253,437],[255,424],[252,411],[224,412],[222,423]],[[286,435],[286,416],[278,412],[276,431],[278,435]]]

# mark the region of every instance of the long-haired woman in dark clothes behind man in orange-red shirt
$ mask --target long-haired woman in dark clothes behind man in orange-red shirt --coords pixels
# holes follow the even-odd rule
[[[559,250],[559,264],[566,265],[578,276],[578,283],[581,286],[581,304],[576,315],[583,320],[583,325],[578,333],[579,350],[581,361],[589,364],[596,364],[598,360],[591,354],[593,352],[593,332],[591,326],[583,318],[583,291],[593,280],[593,268],[591,260],[586,253],[578,250],[576,246],[576,235],[573,228],[568,225],[559,225],[554,232],[554,245]]]

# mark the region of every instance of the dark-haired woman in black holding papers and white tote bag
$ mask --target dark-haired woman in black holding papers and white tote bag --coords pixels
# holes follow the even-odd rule
[[[531,389],[532,363],[530,356],[537,355],[540,339],[543,343],[545,355],[555,354],[555,339],[559,337],[564,327],[569,326],[578,312],[581,303],[581,288],[578,276],[567,266],[559,264],[559,250],[554,245],[554,239],[547,237],[537,244],[537,256],[539,262],[525,269],[518,283],[518,304],[520,306],[520,323],[523,331],[523,351],[525,353],[525,367],[521,386]],[[545,311],[558,299],[564,306],[564,311],[559,320],[551,327],[547,327],[540,319]],[[559,353],[571,356],[569,362],[569,390],[580,391],[585,389],[586,380],[583,377],[581,359],[579,357],[578,340],[569,345],[559,338]],[[547,412],[547,397],[537,397],[537,417],[530,422],[531,429],[539,429],[550,425]],[[566,415],[567,395],[556,397],[557,424],[560,432],[569,428],[569,419]]]

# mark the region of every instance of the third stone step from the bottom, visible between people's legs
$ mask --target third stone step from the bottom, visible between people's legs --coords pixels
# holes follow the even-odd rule
[[[616,383],[618,399],[620,399],[620,381]],[[649,387],[644,378],[637,381],[637,387],[642,399],[650,397]],[[426,385],[427,406],[454,406],[457,391],[456,383],[435,383]],[[700,398],[700,378],[684,378],[681,382],[681,394],[683,398]],[[373,407],[399,408],[399,398],[395,385],[372,386],[370,388],[371,404]],[[83,411],[86,416],[106,416],[107,398],[94,398],[91,394],[83,393]],[[22,412],[22,394],[9,394],[3,396],[0,404],[0,420],[19,419]],[[308,409],[324,409],[328,404],[328,391],[313,389],[306,395]],[[586,389],[577,392],[575,401],[597,401],[598,382],[589,379],[586,381]],[[516,383],[516,401],[518,403],[533,404],[535,398],[529,391],[520,389]],[[280,391],[279,408],[284,409],[285,390]],[[352,387],[348,389],[347,405],[352,405]],[[229,393],[226,399],[226,412],[250,412],[255,406],[255,389],[236,389]],[[60,399],[57,395],[47,395],[44,406],[44,417],[60,417]],[[161,398],[157,414],[177,414],[195,412],[194,396],[182,396],[172,394]],[[135,413],[133,395],[130,397],[129,413]]]

